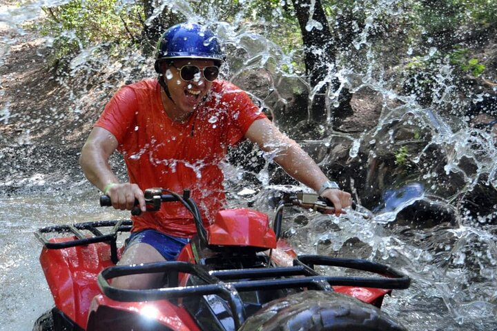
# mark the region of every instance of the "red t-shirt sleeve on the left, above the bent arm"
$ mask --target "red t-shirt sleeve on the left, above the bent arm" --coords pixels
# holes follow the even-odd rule
[[[132,88],[121,88],[107,103],[95,126],[104,128],[114,134],[119,145],[136,123],[138,103],[135,91]]]

